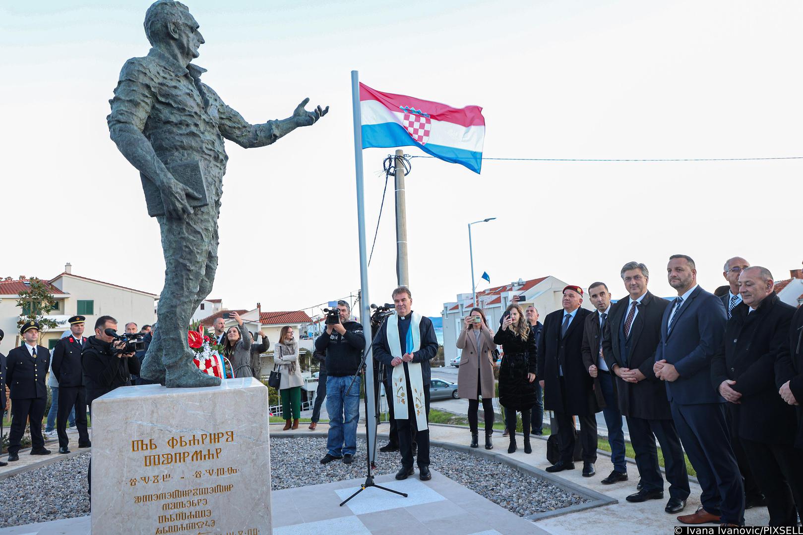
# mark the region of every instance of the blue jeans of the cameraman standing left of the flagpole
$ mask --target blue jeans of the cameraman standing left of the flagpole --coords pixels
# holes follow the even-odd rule
[[[352,385],[353,375],[326,379],[326,411],[329,413],[329,434],[326,449],[329,455],[341,457],[357,451],[357,420],[360,419],[360,381]],[[351,390],[346,390],[351,385]]]

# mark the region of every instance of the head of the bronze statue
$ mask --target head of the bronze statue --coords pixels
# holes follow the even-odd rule
[[[190,9],[174,0],[157,0],[145,13],[145,35],[151,46],[173,49],[187,63],[198,57],[198,47],[204,43],[198,27]]]

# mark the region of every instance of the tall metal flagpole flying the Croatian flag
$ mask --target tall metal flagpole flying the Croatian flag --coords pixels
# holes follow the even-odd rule
[[[362,119],[360,116],[360,74],[352,71],[352,107],[354,119],[354,167],[357,176],[357,233],[360,241],[360,321],[365,336],[365,399],[368,410],[365,418],[368,431],[365,442],[368,444],[366,455],[369,462],[376,460],[377,455],[377,415],[376,399],[373,395],[373,353],[371,351],[371,308],[368,298],[368,254],[365,241],[365,187],[362,169]]]

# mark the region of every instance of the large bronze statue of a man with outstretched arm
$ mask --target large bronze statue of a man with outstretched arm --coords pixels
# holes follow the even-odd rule
[[[218,267],[218,214],[228,159],[223,140],[262,147],[315,124],[328,111],[320,106],[307,111],[309,99],[304,99],[285,120],[248,124],[201,82],[205,70],[190,63],[204,43],[198,27],[181,2],[154,2],[145,14],[152,48],[123,66],[107,117],[112,140],[140,172],[148,212],[161,227],[165,287],[141,376],[168,387],[220,384],[195,367],[187,330],[212,290]]]

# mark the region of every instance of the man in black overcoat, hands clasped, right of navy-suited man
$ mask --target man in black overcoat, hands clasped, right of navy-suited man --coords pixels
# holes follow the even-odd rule
[[[795,309],[773,291],[769,270],[741,271],[744,304],[732,310],[724,341],[711,361],[711,381],[728,401],[732,434],[740,439],[760,492],[767,497],[769,525],[795,525],[803,511],[803,458],[795,452],[797,418],[775,386],[775,363],[789,351]]]

